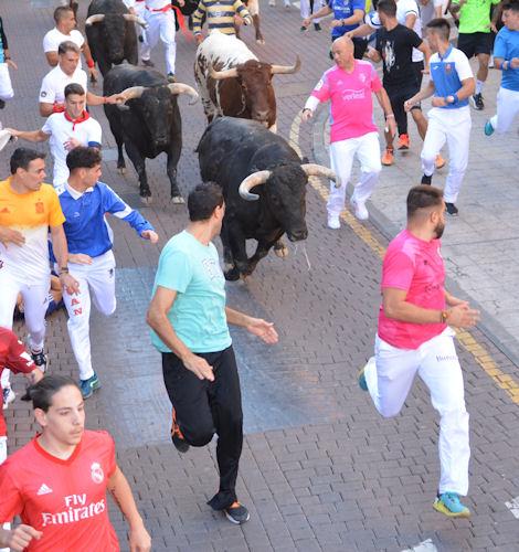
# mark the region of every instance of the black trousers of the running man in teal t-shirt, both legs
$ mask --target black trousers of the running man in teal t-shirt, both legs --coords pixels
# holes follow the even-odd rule
[[[195,447],[218,435],[220,488],[208,502],[223,510],[236,500],[236,477],[243,445],[240,378],[232,347],[198,353],[213,367],[214,381],[199,380],[172,352],[162,353],[162,374],[177,423],[186,440]]]

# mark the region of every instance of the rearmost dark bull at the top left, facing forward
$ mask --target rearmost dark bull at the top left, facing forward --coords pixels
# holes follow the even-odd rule
[[[103,76],[124,60],[137,65],[139,54],[134,23],[147,26],[142,18],[128,12],[121,0],[93,0],[88,6],[86,38]]]

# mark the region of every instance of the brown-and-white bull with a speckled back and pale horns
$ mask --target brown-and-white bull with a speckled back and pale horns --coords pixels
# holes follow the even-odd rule
[[[229,115],[254,119],[276,130],[276,97],[273,75],[292,74],[295,65],[271,65],[260,62],[244,42],[235,36],[213,32],[198,47],[194,79],[203,110],[211,123]]]

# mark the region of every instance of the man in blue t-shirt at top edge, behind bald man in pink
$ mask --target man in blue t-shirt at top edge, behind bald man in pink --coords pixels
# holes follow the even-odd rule
[[[315,19],[324,18],[333,13],[331,21],[331,42],[340,39],[343,34],[357,29],[362,23],[366,13],[366,0],[327,0],[327,4],[303,20],[303,26],[308,26]],[[366,39],[353,39],[353,57],[362,60],[368,41]]]

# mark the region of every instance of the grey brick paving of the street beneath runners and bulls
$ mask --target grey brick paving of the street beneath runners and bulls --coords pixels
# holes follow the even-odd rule
[[[0,113],[7,126],[42,124],[36,114],[39,85],[46,72],[41,39],[52,26],[52,8],[39,4],[35,9],[27,0],[2,1],[1,14],[20,66],[13,74],[17,97]],[[265,60],[290,63],[296,53],[303,60],[300,73],[275,77],[279,132],[287,136],[308,91],[327,67],[329,36],[325,31],[301,34],[296,9],[262,2],[262,10],[267,44],[253,44],[247,29],[245,41]],[[178,77],[188,84],[193,84],[193,53],[194,44],[179,38]],[[153,60],[163,70],[160,46]],[[200,105],[188,106],[184,98],[180,104],[184,149],[179,174],[187,193],[199,181],[193,150],[204,118]],[[104,180],[138,205],[135,173],[117,173],[106,119],[99,108],[92,113],[103,125],[108,150]],[[311,127],[304,127],[300,148],[311,156]],[[10,151],[12,146],[0,153],[3,174]],[[253,277],[227,286],[229,304],[274,320],[280,341],[268,348],[233,331],[246,431],[239,496],[251,509],[251,521],[234,527],[210,510],[205,501],[218,484],[214,442],[183,456],[171,446],[160,358],[144,320],[160,247],[187,221],[186,209],[169,202],[165,159],[147,166],[153,203],[141,211],[161,242],[144,243],[124,223],[113,222],[118,307],[109,319],[97,312],[92,317],[94,363],[104,386],[86,408],[88,427],[107,428],[116,438],[119,464],[152,534],[153,550],[400,551],[431,539],[442,551],[517,551],[519,523],[505,506],[519,495],[517,405],[469,353],[460,352],[472,416],[468,505],[474,514],[453,522],[434,512],[437,422],[424,386],[416,382],[402,414],[383,420],[356,381],[358,368],[372,351],[380,261],[349,227],[326,230],[325,205],[311,188],[305,244],[310,268],[304,245],[290,245],[286,261],[271,255]],[[488,161],[486,169],[491,168],[502,167]],[[368,227],[386,243],[375,227]],[[501,371],[517,376],[517,367],[486,335],[476,330],[474,336]],[[76,375],[63,312],[49,321],[46,347],[53,372]],[[15,381],[18,391],[22,385]],[[12,449],[34,434],[27,403],[17,401],[7,420]],[[126,527],[115,508],[112,518],[125,550]]]

